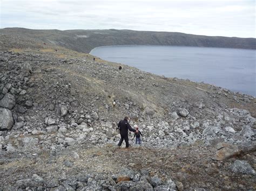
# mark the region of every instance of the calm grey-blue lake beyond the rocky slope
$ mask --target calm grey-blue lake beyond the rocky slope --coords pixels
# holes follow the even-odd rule
[[[184,46],[104,46],[90,54],[153,74],[205,82],[256,96],[256,51]]]

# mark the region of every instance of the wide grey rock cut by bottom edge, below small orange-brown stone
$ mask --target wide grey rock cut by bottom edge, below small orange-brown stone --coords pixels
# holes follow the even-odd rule
[[[121,182],[118,182],[117,189],[118,190],[149,190],[149,191],[154,190],[150,185],[150,183],[145,181],[139,181],[139,182],[121,181]]]

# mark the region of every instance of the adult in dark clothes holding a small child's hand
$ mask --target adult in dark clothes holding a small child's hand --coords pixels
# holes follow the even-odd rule
[[[117,125],[118,129],[120,130],[120,136],[121,136],[118,146],[121,146],[124,140],[125,148],[128,148],[129,147],[128,129],[132,132],[136,132],[135,129],[131,128],[129,121],[130,121],[129,117],[124,117],[124,120],[121,120]]]

